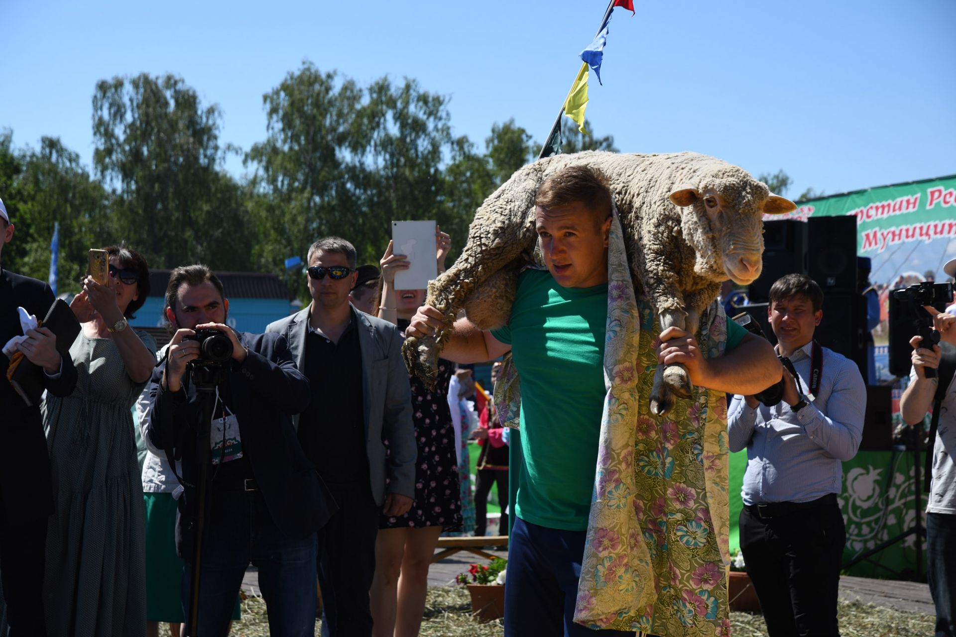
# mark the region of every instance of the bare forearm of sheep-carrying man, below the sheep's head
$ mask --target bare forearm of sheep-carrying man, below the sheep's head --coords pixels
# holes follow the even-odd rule
[[[750,395],[766,390],[783,376],[783,366],[773,347],[759,337],[745,337],[733,350],[707,359],[701,386],[725,393]]]

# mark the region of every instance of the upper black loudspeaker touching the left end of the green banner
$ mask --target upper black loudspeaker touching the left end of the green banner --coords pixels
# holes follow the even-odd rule
[[[857,218],[816,217],[808,222],[810,231],[807,274],[823,288],[857,288]]]

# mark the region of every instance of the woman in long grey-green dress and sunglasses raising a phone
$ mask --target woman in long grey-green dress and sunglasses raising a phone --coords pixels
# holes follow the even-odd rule
[[[64,637],[138,637],[146,628],[132,407],[153,371],[156,343],[126,319],[149,294],[149,270],[123,245],[105,249],[106,285],[86,277],[70,305],[82,324],[70,348],[76,390],[48,395],[42,408],[54,483],[44,605],[49,634]]]

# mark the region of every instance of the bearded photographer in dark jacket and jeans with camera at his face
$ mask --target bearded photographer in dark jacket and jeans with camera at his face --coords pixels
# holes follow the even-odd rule
[[[223,285],[206,265],[172,271],[166,307],[177,330],[153,373],[145,432],[167,457],[182,458],[176,540],[186,634],[228,633],[253,563],[272,635],[312,635],[316,531],[335,504],[293,430],[309,381],[283,336],[228,328]]]

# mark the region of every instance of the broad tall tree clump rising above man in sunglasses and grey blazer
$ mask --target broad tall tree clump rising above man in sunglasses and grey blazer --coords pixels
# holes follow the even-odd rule
[[[392,221],[464,227],[445,193],[445,154],[459,150],[445,97],[411,79],[383,77],[362,88],[305,62],[263,102],[268,137],[246,156],[262,266],[304,256],[327,235],[355,244],[361,261],[378,262]]]

